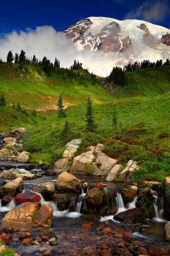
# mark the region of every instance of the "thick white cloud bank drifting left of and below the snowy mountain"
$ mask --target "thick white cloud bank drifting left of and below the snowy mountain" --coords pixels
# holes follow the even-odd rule
[[[100,76],[109,75],[114,65],[112,55],[80,51],[63,32],[57,32],[50,26],[14,31],[0,37],[0,58],[3,60],[6,60],[9,50],[12,50],[12,53],[20,53],[22,49],[28,57],[35,54],[38,59],[42,59],[46,56],[52,62],[56,57],[65,68],[70,67],[74,59],[77,59],[83,63],[85,69]]]

